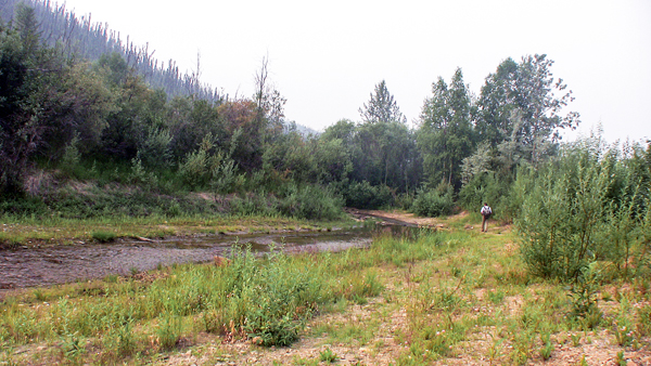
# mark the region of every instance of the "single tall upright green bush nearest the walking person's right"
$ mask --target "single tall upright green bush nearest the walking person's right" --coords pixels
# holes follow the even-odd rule
[[[539,170],[516,225],[521,250],[532,273],[575,278],[598,250],[610,169],[583,149]]]

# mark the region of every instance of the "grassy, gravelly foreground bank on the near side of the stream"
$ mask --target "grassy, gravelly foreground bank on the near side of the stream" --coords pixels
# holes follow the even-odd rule
[[[533,277],[511,228],[478,221],[5,292],[0,365],[650,362],[650,279],[599,263],[574,285]]]

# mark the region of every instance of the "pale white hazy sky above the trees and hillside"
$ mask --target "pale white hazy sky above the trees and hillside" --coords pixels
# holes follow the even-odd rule
[[[574,91],[584,133],[651,138],[651,1],[67,0],[159,61],[196,68],[231,96],[253,94],[269,57],[290,120],[316,130],[358,109],[381,80],[409,121],[432,82],[461,67],[478,94],[501,61],[546,53]]]

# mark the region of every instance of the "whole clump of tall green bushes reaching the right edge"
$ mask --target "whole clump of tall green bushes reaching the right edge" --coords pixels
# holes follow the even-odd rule
[[[559,158],[516,182],[515,196],[526,197],[515,223],[532,273],[573,279],[592,257],[627,273],[634,252],[646,258],[635,234],[647,210],[638,199],[642,186],[627,183],[625,172],[617,151],[591,138],[566,146]]]

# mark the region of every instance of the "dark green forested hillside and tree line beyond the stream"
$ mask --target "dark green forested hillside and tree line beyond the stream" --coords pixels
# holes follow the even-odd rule
[[[118,184],[158,196],[207,192],[213,206],[200,211],[334,218],[345,205],[438,215],[489,201],[498,217],[512,220],[524,199],[516,187],[531,188],[576,146],[596,164],[609,157],[621,169],[602,204],[633,199],[637,187],[636,210],[648,207],[648,145],[602,146],[598,135],[561,144],[559,132],[575,129],[579,116],[545,54],[507,57],[478,95],[461,68],[449,81],[439,77],[416,128],[380,81],[358,121],[333,121],[322,134],[304,136],[285,120],[285,99],[270,87],[266,63],[255,94],[229,100],[194,76],[180,77],[174,63],[162,68],[146,47],[123,43],[49,1],[7,0],[0,9],[3,212],[101,215],[125,206],[97,201],[102,187]],[[60,189],[67,181],[103,193],[68,201]],[[197,209],[143,200],[158,204],[126,214]],[[69,209],[81,204],[85,210]]]

